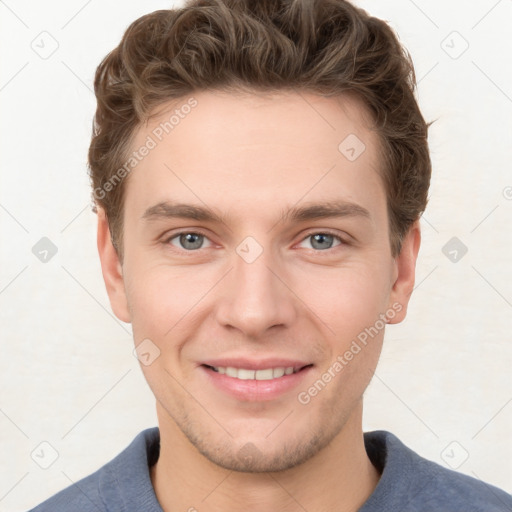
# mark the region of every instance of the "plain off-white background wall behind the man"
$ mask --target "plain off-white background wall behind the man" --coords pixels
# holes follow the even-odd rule
[[[96,66],[130,22],[170,5],[0,2],[0,511],[27,510],[156,425],[104,289],[86,154]],[[416,289],[387,328],[364,428],[512,493],[512,1],[359,5],[398,32],[437,119]],[[46,59],[41,37],[58,43]],[[58,248],[47,263],[32,253],[44,236]],[[452,237],[468,249],[456,262]],[[31,458],[43,441],[59,454],[48,469]]]

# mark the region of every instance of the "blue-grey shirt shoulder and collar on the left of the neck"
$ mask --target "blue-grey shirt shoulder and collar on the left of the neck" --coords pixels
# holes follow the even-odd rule
[[[145,510],[160,512],[149,476],[151,459],[158,458],[159,441],[158,427],[143,430],[107,464],[29,512],[126,510],[126,503],[139,500],[147,505]]]

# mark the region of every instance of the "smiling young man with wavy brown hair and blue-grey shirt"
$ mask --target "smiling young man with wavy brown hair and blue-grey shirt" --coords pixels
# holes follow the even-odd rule
[[[512,510],[362,431],[427,203],[414,87],[391,29],[343,0],[195,0],[128,28],[89,164],[158,428],[35,511]]]

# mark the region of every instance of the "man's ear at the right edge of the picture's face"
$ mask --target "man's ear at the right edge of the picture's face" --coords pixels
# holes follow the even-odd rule
[[[395,257],[394,282],[389,297],[389,307],[396,314],[388,319],[388,324],[398,324],[407,315],[407,305],[414,288],[416,276],[416,259],[421,243],[420,221],[416,220],[409,228],[402,242],[400,254]],[[392,305],[395,304],[395,307]],[[401,307],[399,308],[400,305]]]

